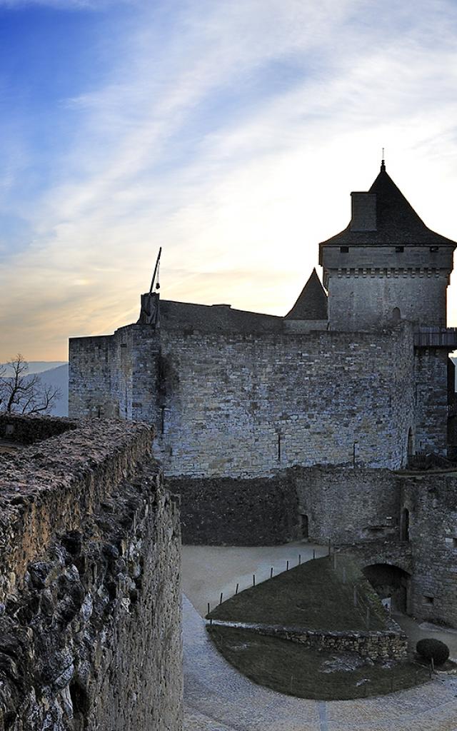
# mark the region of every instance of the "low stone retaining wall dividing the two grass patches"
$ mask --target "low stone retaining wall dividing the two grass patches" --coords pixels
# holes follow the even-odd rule
[[[259,635],[290,640],[290,642],[316,650],[355,652],[362,657],[369,657],[371,660],[404,660],[407,656],[407,636],[393,621],[391,621],[391,629],[385,632],[325,632],[304,627],[282,627],[220,620],[213,620],[213,624],[248,629]]]

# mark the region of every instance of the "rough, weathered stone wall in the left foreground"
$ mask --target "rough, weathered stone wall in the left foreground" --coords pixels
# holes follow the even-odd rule
[[[179,526],[146,425],[0,458],[0,728],[181,730]]]

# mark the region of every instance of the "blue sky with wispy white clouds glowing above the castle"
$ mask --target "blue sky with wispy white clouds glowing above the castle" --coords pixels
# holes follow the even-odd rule
[[[135,320],[159,246],[163,297],[285,313],[382,146],[457,238],[456,39],[454,1],[0,0],[0,361]]]

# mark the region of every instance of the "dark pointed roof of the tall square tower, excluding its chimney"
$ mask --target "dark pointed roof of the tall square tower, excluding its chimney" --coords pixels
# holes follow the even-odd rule
[[[344,231],[332,236],[322,245],[328,244],[396,244],[396,243],[423,243],[448,244],[456,246],[456,242],[431,231],[420,219],[404,194],[393,182],[385,170],[384,161],[381,171],[369,189],[369,193],[376,194],[376,229],[373,231],[353,231],[351,224]]]

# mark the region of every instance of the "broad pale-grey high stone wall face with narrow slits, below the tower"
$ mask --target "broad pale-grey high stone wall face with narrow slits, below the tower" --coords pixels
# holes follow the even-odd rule
[[[354,460],[396,469],[406,461],[407,326],[376,336],[162,331],[161,339],[166,408],[156,455],[170,476],[262,477]]]

